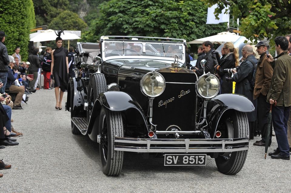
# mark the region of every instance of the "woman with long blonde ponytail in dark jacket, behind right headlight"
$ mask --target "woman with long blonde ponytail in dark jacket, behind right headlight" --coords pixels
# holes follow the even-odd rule
[[[234,47],[231,42],[226,42],[223,45],[223,52],[225,54],[223,60],[221,60],[220,67],[218,68],[218,74],[220,76],[221,93],[232,93],[232,82],[226,82],[226,76],[228,73],[224,73],[223,70],[227,68],[234,68],[239,65],[239,53],[238,49]]]

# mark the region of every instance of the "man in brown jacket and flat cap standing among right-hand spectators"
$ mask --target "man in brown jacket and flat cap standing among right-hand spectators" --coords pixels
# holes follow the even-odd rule
[[[270,104],[267,103],[267,94],[273,76],[273,68],[266,57],[266,51],[269,49],[269,42],[267,40],[262,40],[256,44],[255,47],[257,47],[256,51],[260,55],[260,59],[256,69],[254,100],[258,99],[258,123],[262,139],[260,141],[256,141],[253,145],[265,146],[266,132],[268,127],[268,115],[270,110]],[[271,144],[272,129],[270,130],[269,136],[269,144]]]

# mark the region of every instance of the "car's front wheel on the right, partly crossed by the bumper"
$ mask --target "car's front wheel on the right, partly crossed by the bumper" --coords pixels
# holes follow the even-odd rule
[[[235,111],[227,118],[225,138],[240,138],[249,135],[249,123],[246,113]],[[233,129],[233,131],[231,131]],[[246,161],[248,150],[223,153],[215,158],[219,172],[223,174],[237,174]]]

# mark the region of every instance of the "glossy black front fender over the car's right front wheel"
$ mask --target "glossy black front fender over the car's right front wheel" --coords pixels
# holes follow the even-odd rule
[[[214,133],[223,113],[231,109],[249,113],[253,112],[255,107],[247,97],[239,94],[220,94],[212,98],[207,103],[206,111],[209,126],[211,126],[212,130],[211,136],[214,137]]]

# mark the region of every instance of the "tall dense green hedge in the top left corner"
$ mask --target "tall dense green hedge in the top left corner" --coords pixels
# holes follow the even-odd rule
[[[12,55],[16,46],[21,47],[22,60],[26,61],[30,29],[35,27],[32,0],[1,0],[0,24],[0,30],[7,35],[8,54]]]

